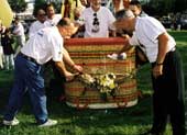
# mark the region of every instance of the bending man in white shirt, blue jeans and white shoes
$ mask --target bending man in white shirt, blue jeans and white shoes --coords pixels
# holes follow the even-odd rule
[[[19,124],[15,114],[21,108],[26,90],[38,126],[44,127],[57,124],[57,121],[50,120],[47,116],[42,65],[53,59],[55,66],[67,81],[74,79],[75,74],[66,70],[64,61],[75,71],[82,71],[82,68],[75,65],[67,50],[63,47],[64,37],[73,35],[76,30],[77,27],[69,19],[62,19],[57,26],[37,31],[28,41],[26,45],[21,48],[21,53],[15,57],[14,83],[3,119],[4,125]]]

